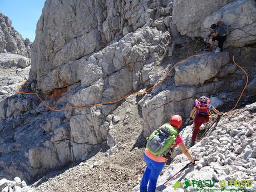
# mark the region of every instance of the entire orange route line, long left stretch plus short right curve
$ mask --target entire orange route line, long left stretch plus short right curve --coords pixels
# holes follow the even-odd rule
[[[31,95],[31,94],[33,94],[33,95],[36,95],[37,98],[38,98],[40,101],[42,101],[42,103],[43,103],[46,107],[48,107],[48,109],[50,109],[50,110],[52,110],[52,111],[64,111],[64,110],[78,109],[78,108],[81,108],[81,107],[91,107],[91,106],[96,106],[96,105],[115,104],[115,103],[117,103],[117,102],[120,102],[120,101],[124,100],[126,97],[129,97],[129,96],[131,96],[131,95],[135,95],[135,94],[145,94],[145,93],[149,92],[150,90],[152,90],[153,88],[155,88],[157,85],[159,85],[160,83],[162,83],[162,82],[168,77],[169,73],[171,72],[171,70],[173,70],[173,68],[174,68],[176,65],[179,65],[180,63],[184,63],[184,62],[190,60],[191,58],[193,58],[193,57],[198,57],[198,56],[203,56],[203,55],[193,55],[193,56],[187,58],[186,60],[182,60],[182,61],[176,63],[176,64],[175,64],[173,67],[171,67],[170,70],[165,74],[165,76],[164,76],[164,78],[163,78],[162,80],[160,80],[159,82],[155,83],[154,86],[148,88],[147,90],[141,91],[141,92],[133,92],[133,93],[130,93],[129,95],[126,95],[126,96],[124,96],[124,97],[121,97],[120,99],[115,100],[115,101],[101,102],[101,103],[98,103],[98,104],[90,104],[90,105],[79,105],[79,106],[74,106],[74,107],[66,107],[66,108],[63,108],[63,109],[59,109],[59,110],[58,110],[58,109],[53,109],[51,106],[47,105],[46,102],[43,101],[43,100],[41,99],[41,97],[38,96],[38,94],[37,94],[36,92],[19,92],[19,91],[18,91],[19,88],[21,88],[21,87],[24,85],[24,83],[27,82],[27,80],[24,81],[24,82],[22,83],[22,85],[20,85],[20,86],[17,88],[16,92],[19,93],[19,94],[26,94],[26,95]],[[237,65],[240,69],[242,69],[242,70],[244,71],[244,69],[243,69],[242,67],[240,67],[240,66],[235,62],[235,60],[234,60],[234,55],[233,55],[233,62],[234,62],[235,65]],[[238,101],[237,101],[237,104],[235,104],[235,106],[234,106],[229,112],[231,112],[232,110],[235,109],[235,107],[237,107],[238,102],[240,101],[240,99],[241,99],[241,97],[242,97],[242,95],[243,95],[243,93],[244,93],[244,90],[245,90],[245,88],[246,88],[246,86],[247,86],[247,83],[248,83],[248,75],[247,75],[247,72],[244,71],[244,73],[245,73],[245,75],[247,76],[247,82],[246,82],[246,84],[245,84],[245,86],[244,86],[243,91],[240,93],[240,97],[239,97],[239,99],[238,99]],[[228,114],[229,114],[229,112],[228,112]],[[228,114],[226,114],[226,115],[228,115]]]

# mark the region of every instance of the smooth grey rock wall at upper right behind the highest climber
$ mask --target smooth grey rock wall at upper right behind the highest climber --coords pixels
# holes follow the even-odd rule
[[[206,38],[210,33],[210,25],[219,20],[229,27],[224,47],[242,47],[255,43],[255,1],[174,1],[173,21],[181,35]]]

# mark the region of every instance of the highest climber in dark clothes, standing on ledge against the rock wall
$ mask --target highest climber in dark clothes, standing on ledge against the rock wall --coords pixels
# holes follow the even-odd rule
[[[211,24],[211,29],[213,29],[213,35],[210,35],[211,39],[211,46],[208,51],[213,51],[215,40],[218,41],[218,47],[216,48],[215,52],[222,52],[223,51],[223,43],[227,38],[228,29],[225,27],[224,23],[218,21],[216,24]]]

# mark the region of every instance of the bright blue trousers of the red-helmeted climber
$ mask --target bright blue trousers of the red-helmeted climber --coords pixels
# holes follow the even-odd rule
[[[140,192],[155,192],[157,178],[159,177],[161,171],[163,170],[165,163],[153,161],[145,154],[144,159],[147,164],[147,167],[142,176]],[[147,183],[149,183],[149,188],[147,188]]]

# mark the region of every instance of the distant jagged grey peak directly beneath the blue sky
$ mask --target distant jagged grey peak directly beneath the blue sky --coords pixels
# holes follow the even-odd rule
[[[11,20],[0,12],[0,53],[15,53],[30,57],[31,42],[12,27]]]

